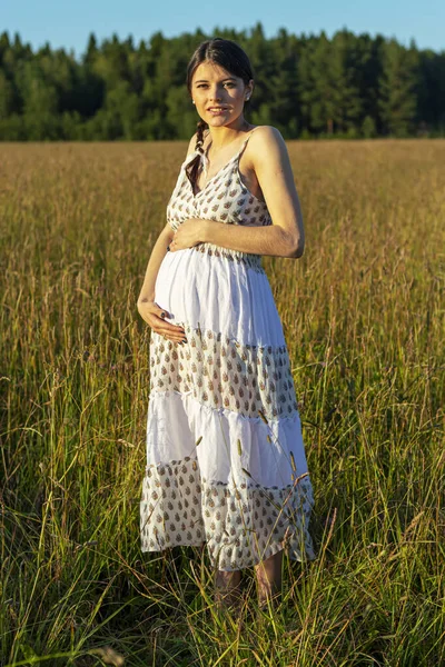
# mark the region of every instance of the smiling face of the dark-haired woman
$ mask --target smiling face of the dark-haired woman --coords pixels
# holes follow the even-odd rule
[[[254,89],[215,62],[201,62],[191,80],[191,98],[196,110],[209,127],[231,125],[241,113]]]

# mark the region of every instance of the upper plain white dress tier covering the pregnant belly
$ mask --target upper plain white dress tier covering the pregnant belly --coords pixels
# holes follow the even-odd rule
[[[155,300],[168,321],[220,332],[250,345],[285,345],[266,273],[247,265],[198,252],[167,252],[158,271]]]

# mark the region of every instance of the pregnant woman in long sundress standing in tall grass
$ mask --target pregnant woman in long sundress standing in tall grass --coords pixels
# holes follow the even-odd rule
[[[281,321],[261,255],[299,258],[304,228],[286,145],[244,117],[246,53],[212,39],[187,70],[200,117],[148,262],[151,327],[142,551],[206,542],[216,599],[279,598],[281,556],[313,559],[313,490]]]

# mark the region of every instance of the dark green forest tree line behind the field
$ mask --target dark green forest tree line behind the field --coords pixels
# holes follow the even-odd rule
[[[344,29],[328,39],[281,29],[266,38],[216,29],[249,56],[256,87],[246,112],[286,139],[445,136],[445,51]],[[0,36],[0,140],[189,139],[198,120],[185,84],[202,31],[135,44],[90,34],[77,59]]]

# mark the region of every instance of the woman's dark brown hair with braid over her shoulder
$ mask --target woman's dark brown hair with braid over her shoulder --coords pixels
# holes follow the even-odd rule
[[[220,37],[215,37],[214,39],[208,39],[199,44],[196,49],[195,53],[191,56],[190,61],[187,66],[187,88],[191,96],[191,81],[195,74],[196,69],[205,61],[211,61],[219,67],[224,68],[230,74],[235,77],[239,77],[243,81],[247,83],[250,79],[254,78],[254,70],[251,68],[250,61],[247,58],[245,51],[243,51],[241,47],[230,39],[222,39]],[[197,125],[196,132],[196,145],[195,150],[202,153],[202,143],[204,143],[204,130],[207,128],[206,121],[200,119]],[[200,157],[196,156],[191,162],[187,165],[186,173],[191,182],[191,187],[195,189],[196,180],[198,178],[198,169],[199,169]]]

